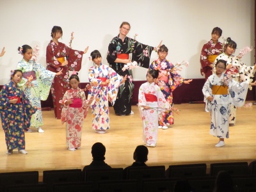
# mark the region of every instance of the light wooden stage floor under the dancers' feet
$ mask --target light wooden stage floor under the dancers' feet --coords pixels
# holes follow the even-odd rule
[[[175,124],[170,129],[159,129],[157,147],[148,148],[147,164],[192,164],[256,160],[256,106],[237,109],[236,126],[230,127],[230,138],[225,147],[214,147],[218,142],[209,134],[210,114],[204,104],[180,104],[180,115],[175,114]],[[54,111],[43,111],[44,133],[26,133],[28,154],[5,154],[4,132],[0,132],[0,172],[22,172],[83,168],[92,161],[91,147],[95,142],[106,146],[106,163],[113,168],[132,164],[132,154],[137,145],[143,145],[142,121],[138,108],[132,106],[134,115],[116,116],[110,108],[111,129],[106,134],[92,130],[90,111],[84,121],[82,147],[75,152],[65,146],[65,125],[54,118]]]

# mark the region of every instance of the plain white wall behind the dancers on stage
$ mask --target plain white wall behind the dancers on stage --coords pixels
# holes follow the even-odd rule
[[[128,36],[138,33],[137,40],[143,44],[157,46],[163,40],[172,63],[189,61],[189,67],[182,71],[183,77],[202,78],[200,52],[211,39],[212,28],[220,27],[222,36],[236,41],[236,54],[246,45],[255,47],[254,7],[254,0],[1,0],[0,49],[5,46],[6,54],[0,58],[0,84],[9,81],[10,70],[22,59],[17,51],[21,45],[38,45],[37,61],[46,66],[45,51],[54,25],[63,29],[61,42],[68,44],[74,31],[73,49],[83,51],[90,46],[79,72],[81,82],[88,82],[90,52],[98,49],[102,63],[108,64],[108,44],[118,35],[122,21],[131,24]],[[154,52],[151,61],[156,58]],[[254,49],[243,61],[253,65]],[[145,79],[145,71],[136,68],[134,78]]]

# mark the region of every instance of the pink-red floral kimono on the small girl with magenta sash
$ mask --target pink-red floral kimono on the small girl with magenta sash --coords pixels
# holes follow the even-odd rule
[[[70,99],[81,99],[81,108],[72,108],[65,106],[65,102]],[[66,122],[66,143],[68,148],[79,148],[81,147],[82,128],[84,118],[88,113],[88,100],[86,100],[84,90],[80,88],[68,90],[63,99],[61,100],[63,108],[61,111],[61,123]]]

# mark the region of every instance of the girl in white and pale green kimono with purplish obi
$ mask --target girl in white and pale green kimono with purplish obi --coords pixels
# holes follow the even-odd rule
[[[42,129],[43,117],[41,109],[41,100],[46,100],[52,80],[55,76],[60,76],[60,72],[54,73],[46,70],[42,65],[31,60],[33,56],[33,49],[29,45],[22,45],[18,48],[20,54],[22,54],[23,59],[19,61],[17,69],[22,70],[23,78],[18,84],[24,89],[26,96],[33,106],[37,107],[36,113],[31,118],[31,127],[38,129],[38,132],[44,132]],[[28,80],[28,77],[33,77],[32,81]],[[31,132],[31,129],[28,130]]]

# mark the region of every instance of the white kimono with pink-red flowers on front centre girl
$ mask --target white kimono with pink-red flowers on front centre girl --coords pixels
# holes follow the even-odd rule
[[[155,95],[157,101],[147,101],[145,94]],[[150,109],[144,109],[143,106],[149,106]],[[162,112],[170,108],[170,104],[165,100],[157,84],[147,82],[140,86],[138,107],[143,120],[143,141],[147,145],[156,145],[158,120],[161,118]]]

